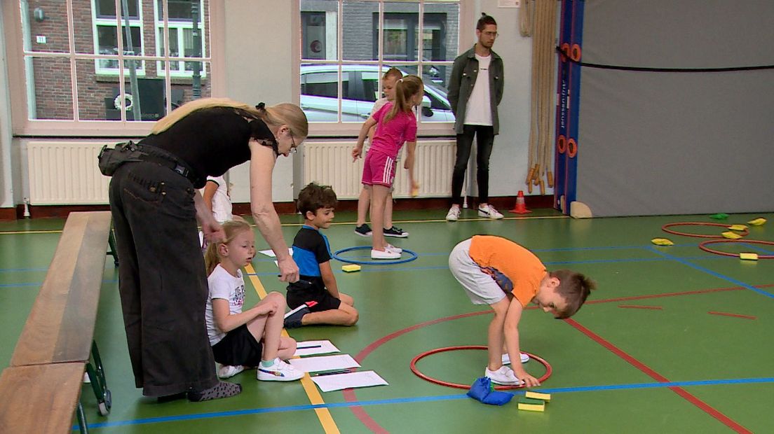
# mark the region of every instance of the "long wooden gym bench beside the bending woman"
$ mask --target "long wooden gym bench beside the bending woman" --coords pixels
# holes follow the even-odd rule
[[[99,412],[107,415],[110,411],[110,391],[94,342],[110,225],[110,212],[71,212],[68,216],[16,343],[11,367],[2,372],[0,432],[70,432],[76,409],[81,431],[86,432],[78,402],[84,369],[97,395]]]

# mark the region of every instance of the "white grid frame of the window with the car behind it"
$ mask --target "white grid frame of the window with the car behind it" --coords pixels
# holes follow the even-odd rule
[[[296,34],[298,36],[297,44],[299,47],[301,47],[301,44],[303,43],[303,28],[301,27],[303,25],[303,19],[301,19],[301,2],[303,0],[297,0],[296,2],[293,2],[293,7],[295,8],[294,14],[295,14],[295,22],[298,25],[298,28],[296,29]],[[325,65],[331,65],[336,64],[338,66],[338,73],[339,76],[341,76],[341,73],[343,71],[344,65],[351,65],[351,64],[367,64],[367,65],[376,65],[378,66],[378,70],[382,70],[382,67],[385,66],[385,64],[395,63],[399,65],[409,65],[409,66],[416,66],[418,71],[422,71],[424,66],[432,66],[432,65],[439,65],[439,66],[447,66],[448,68],[451,68],[452,64],[454,63],[454,57],[457,56],[457,53],[462,53],[465,50],[467,50],[469,47],[462,47],[461,41],[462,38],[462,23],[465,22],[474,22],[471,21],[473,18],[474,13],[474,5],[471,5],[472,2],[467,2],[466,0],[412,0],[410,3],[416,3],[418,4],[418,15],[416,15],[416,21],[417,21],[417,27],[416,32],[419,35],[418,41],[416,41],[417,45],[417,53],[420,53],[418,57],[420,59],[416,59],[413,61],[409,60],[400,60],[400,61],[389,61],[389,59],[384,58],[383,54],[383,36],[382,32],[384,31],[384,19],[385,19],[385,13],[386,14],[392,14],[393,12],[386,11],[385,12],[385,3],[391,3],[389,0],[369,0],[369,2],[378,3],[378,28],[375,30],[369,29],[369,32],[375,32],[376,39],[375,41],[378,41],[378,56],[376,56],[377,60],[345,60],[343,59],[343,49],[342,49],[342,42],[343,42],[343,33],[344,33],[344,25],[343,25],[343,3],[344,0],[335,0],[337,2],[337,13],[336,13],[336,32],[337,32],[337,59],[327,60],[327,59],[302,59],[302,49],[299,49],[298,53],[296,53],[296,56],[294,58],[295,68],[297,76],[299,77],[297,82],[299,85],[296,88],[296,92],[298,93],[298,101],[300,101],[301,98],[301,65],[315,65],[315,64],[325,64]],[[394,2],[395,0],[393,0]],[[408,1],[406,1],[408,2]],[[421,53],[423,53],[423,26],[424,26],[424,8],[426,4],[430,5],[437,5],[440,3],[456,3],[458,5],[458,13],[459,13],[459,22],[460,27],[457,32],[457,44],[456,46],[447,46],[447,58],[451,58],[451,60],[444,60],[444,61],[424,61],[421,59]],[[433,13],[433,12],[429,12]],[[412,29],[408,29],[408,32],[413,31]],[[454,53],[454,56],[452,56],[450,53]],[[379,83],[381,83],[381,77],[379,77]],[[381,87],[381,84],[378,85]],[[341,86],[339,86],[339,95],[343,95],[343,91],[341,89]],[[342,107],[342,100],[339,100],[338,103],[338,110],[341,114],[341,107]],[[343,114],[340,116],[340,118],[343,117]],[[362,123],[361,122],[351,122],[351,121],[342,121],[338,120],[337,122],[310,122],[309,124],[309,130],[310,130],[310,136],[314,137],[357,137],[358,133],[360,131]],[[417,134],[422,137],[449,137],[454,136],[454,122],[451,121],[440,121],[440,122],[418,122],[417,125]]]

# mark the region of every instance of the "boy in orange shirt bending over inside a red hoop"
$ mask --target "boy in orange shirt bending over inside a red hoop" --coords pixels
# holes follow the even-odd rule
[[[519,320],[527,303],[569,318],[596,288],[594,281],[571,270],[547,272],[532,252],[498,236],[460,242],[451,251],[449,268],[474,304],[488,304],[495,311],[488,328],[485,376],[498,385],[540,385],[521,364],[513,369],[502,364],[504,348],[510,360],[519,360]]]

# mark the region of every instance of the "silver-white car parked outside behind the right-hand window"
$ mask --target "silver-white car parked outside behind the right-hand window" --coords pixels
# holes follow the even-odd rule
[[[375,100],[382,96],[378,79],[389,69],[377,65],[341,66],[341,120],[362,122],[371,114]],[[404,72],[404,75],[406,73]],[[454,122],[447,90],[433,80],[425,82],[423,122]],[[301,108],[310,122],[336,122],[338,112],[338,69],[336,65],[301,66]]]

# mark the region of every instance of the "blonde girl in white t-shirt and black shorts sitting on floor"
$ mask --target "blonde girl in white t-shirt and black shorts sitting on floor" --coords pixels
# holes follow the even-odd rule
[[[245,366],[258,367],[261,381],[293,381],[302,371],[283,360],[293,357],[296,341],[281,336],[285,315],[285,297],[272,292],[248,310],[245,280],[240,268],[255,255],[255,235],[247,222],[224,222],[225,239],[207,246],[207,297],[205,319],[215,361],[221,378],[236,375]]]

